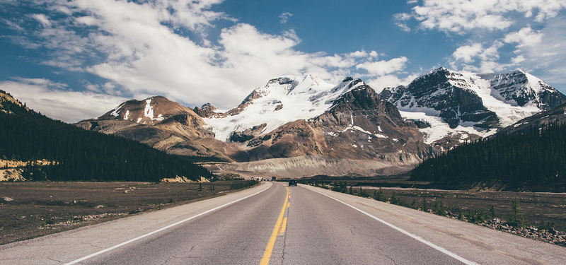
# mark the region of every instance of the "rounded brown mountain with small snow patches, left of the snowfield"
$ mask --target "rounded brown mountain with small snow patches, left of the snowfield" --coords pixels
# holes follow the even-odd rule
[[[210,105],[207,110],[214,111],[214,106]],[[163,97],[129,100],[96,119],[75,125],[146,143],[167,153],[230,160],[221,151],[195,143],[197,139],[214,138],[214,133],[204,127],[206,123],[202,117],[190,108]]]

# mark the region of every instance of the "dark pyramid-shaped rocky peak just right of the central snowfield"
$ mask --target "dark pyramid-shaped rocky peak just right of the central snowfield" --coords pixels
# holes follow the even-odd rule
[[[395,106],[366,85],[343,95],[313,124],[324,132],[326,150],[333,158],[374,159],[387,153],[416,153],[424,158],[434,153],[417,126],[405,122]]]

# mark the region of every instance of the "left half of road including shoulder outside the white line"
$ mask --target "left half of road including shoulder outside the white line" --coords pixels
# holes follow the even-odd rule
[[[84,264],[259,264],[286,196],[282,184],[262,183],[214,199],[0,246],[0,264],[67,264],[84,257]],[[104,253],[89,257],[97,252]]]

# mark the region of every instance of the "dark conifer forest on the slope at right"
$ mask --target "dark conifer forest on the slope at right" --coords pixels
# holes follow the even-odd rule
[[[425,160],[410,180],[458,188],[565,192],[566,124],[480,139]]]

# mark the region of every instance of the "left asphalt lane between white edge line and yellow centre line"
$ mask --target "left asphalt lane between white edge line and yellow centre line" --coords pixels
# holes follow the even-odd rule
[[[275,184],[85,264],[259,264],[286,194],[282,184]]]

